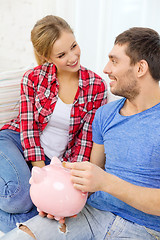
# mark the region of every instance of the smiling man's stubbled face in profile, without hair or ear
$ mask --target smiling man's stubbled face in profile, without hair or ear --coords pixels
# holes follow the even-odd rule
[[[111,82],[111,92],[126,98],[134,98],[139,94],[139,84],[135,76],[133,65],[125,50],[127,45],[115,45],[109,54],[109,63],[104,69]]]

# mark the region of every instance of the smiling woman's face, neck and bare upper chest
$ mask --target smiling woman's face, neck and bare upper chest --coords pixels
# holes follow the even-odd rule
[[[72,104],[78,89],[80,68],[80,48],[72,33],[61,33],[53,45],[49,61],[54,62],[57,68],[60,99],[64,103]]]

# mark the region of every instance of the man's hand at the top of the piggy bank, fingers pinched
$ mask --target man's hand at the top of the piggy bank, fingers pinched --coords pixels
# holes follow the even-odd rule
[[[101,191],[105,171],[91,162],[63,162],[63,167],[71,169],[71,181],[82,192]]]

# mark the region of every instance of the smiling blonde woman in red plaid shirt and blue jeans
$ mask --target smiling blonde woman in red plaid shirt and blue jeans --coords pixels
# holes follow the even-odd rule
[[[53,156],[89,161],[94,115],[107,103],[105,81],[80,65],[80,47],[64,19],[40,19],[31,40],[38,66],[23,75],[19,114],[0,131],[3,232],[38,214],[29,195],[32,166],[44,167]]]

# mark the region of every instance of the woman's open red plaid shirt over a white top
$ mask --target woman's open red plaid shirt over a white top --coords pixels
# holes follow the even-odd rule
[[[45,160],[40,135],[58,98],[56,67],[46,63],[27,71],[21,83],[20,114],[2,129],[20,132],[26,161]],[[94,72],[79,70],[79,87],[70,116],[69,141],[64,161],[88,161],[92,148],[92,122],[96,110],[107,103],[105,81]]]

